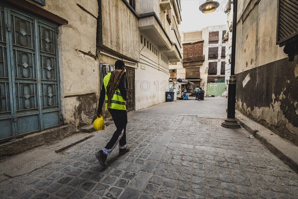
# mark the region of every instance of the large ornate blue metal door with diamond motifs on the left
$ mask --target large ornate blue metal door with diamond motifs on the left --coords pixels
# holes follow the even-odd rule
[[[60,123],[57,27],[0,5],[0,140]]]

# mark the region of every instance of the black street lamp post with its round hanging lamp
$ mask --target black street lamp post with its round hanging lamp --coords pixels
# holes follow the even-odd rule
[[[229,0],[230,3],[230,0]],[[214,12],[220,3],[213,0],[206,0],[200,6],[203,13]],[[232,22],[232,52],[231,52],[231,75],[228,80],[227,96],[227,118],[221,124],[226,128],[240,128],[240,124],[235,119],[235,102],[236,102],[236,76],[235,76],[235,52],[236,52],[236,24],[237,24],[237,0],[233,0],[233,22]]]

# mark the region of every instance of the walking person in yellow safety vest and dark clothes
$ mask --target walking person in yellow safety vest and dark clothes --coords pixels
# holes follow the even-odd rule
[[[99,164],[106,167],[107,156],[115,149],[119,143],[119,155],[129,152],[129,147],[126,145],[126,125],[127,112],[125,101],[127,100],[127,82],[125,74],[125,64],[118,60],[115,62],[115,71],[107,74],[103,78],[103,86],[100,92],[97,116],[101,115],[102,106],[105,101],[105,107],[109,110],[117,127],[111,140],[100,151],[95,153]]]

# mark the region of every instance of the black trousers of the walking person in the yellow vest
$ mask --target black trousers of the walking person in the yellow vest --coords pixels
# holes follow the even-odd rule
[[[114,120],[116,131],[114,132],[111,140],[107,143],[106,149],[114,149],[119,142],[120,146],[126,145],[126,125],[127,125],[127,112],[126,110],[117,110],[109,108],[109,112]],[[122,131],[123,134],[122,134]],[[122,137],[119,139],[119,136]]]

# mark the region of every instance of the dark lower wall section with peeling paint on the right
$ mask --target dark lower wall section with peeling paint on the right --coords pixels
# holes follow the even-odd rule
[[[247,79],[249,75],[249,79]],[[298,56],[236,75],[236,108],[298,145]]]

